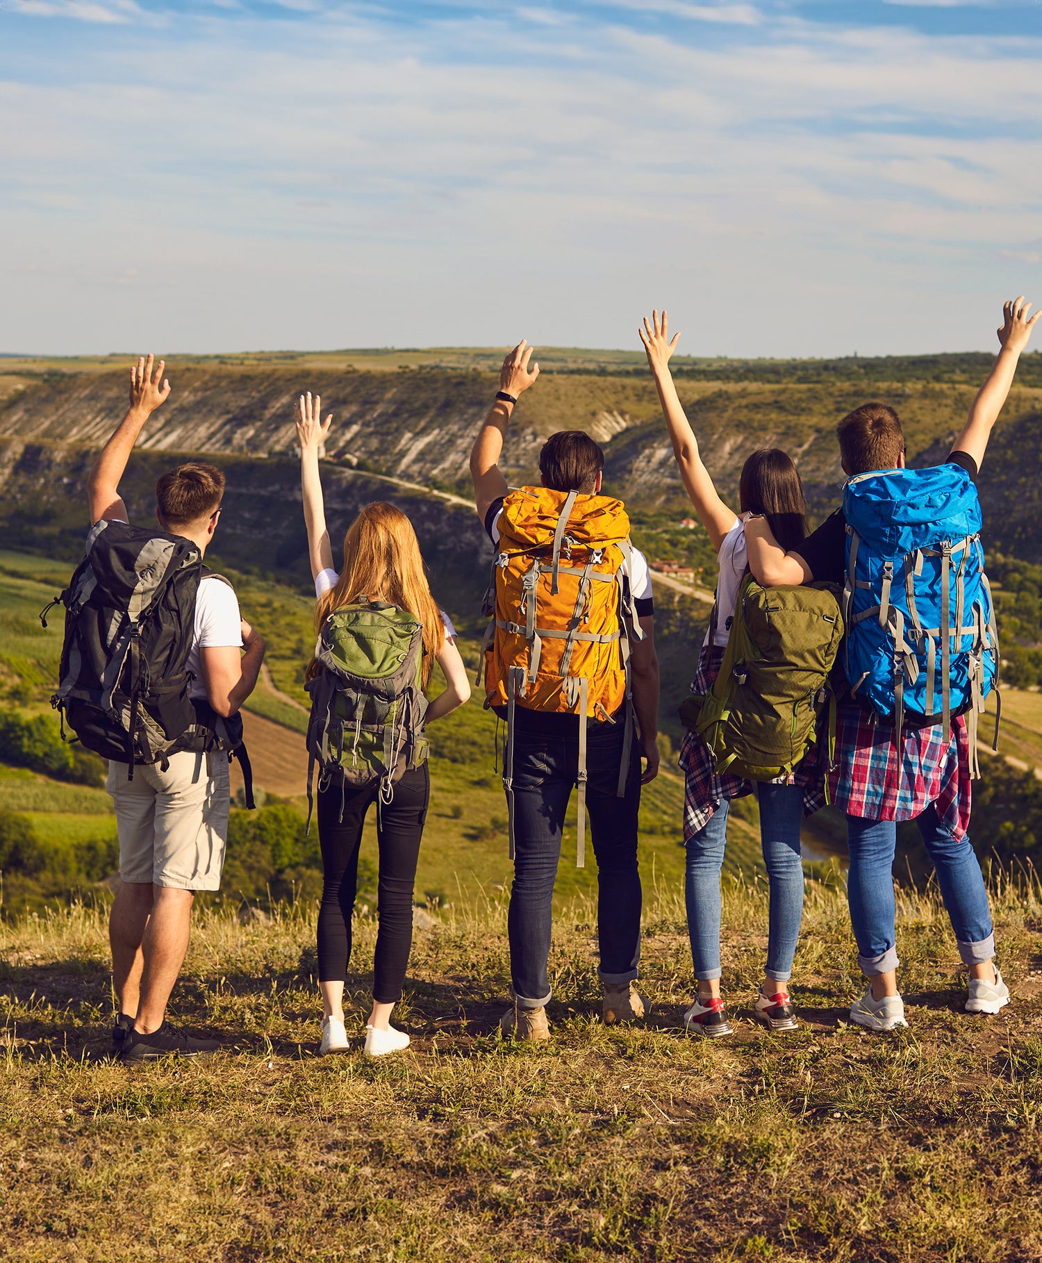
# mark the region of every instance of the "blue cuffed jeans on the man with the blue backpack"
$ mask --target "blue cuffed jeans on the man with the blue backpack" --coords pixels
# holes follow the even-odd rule
[[[988,890],[969,836],[956,841],[931,803],[916,817],[919,836],[937,870],[951,928],[964,965],[984,965],[995,955]],[[850,870],[846,897],[850,923],[858,940],[858,964],[868,978],[897,969],[894,932],[894,847],[897,825],[892,820],[846,817]]]

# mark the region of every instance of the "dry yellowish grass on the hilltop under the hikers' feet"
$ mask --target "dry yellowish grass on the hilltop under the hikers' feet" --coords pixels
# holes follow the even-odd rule
[[[807,1019],[749,1022],[759,885],[730,883],[725,962],[739,1034],[685,1037],[680,902],[645,917],[645,1029],[595,1018],[592,907],[557,919],[554,1038],[493,1032],[506,981],[501,901],[417,933],[400,1009],[412,1048],[314,1056],[313,908],[270,925],[203,914],[176,1008],[227,1034],[201,1065],[104,1053],[101,913],[0,927],[0,1254],[53,1259],[1042,1258],[1042,903],[995,899],[1014,1004],[960,1013],[932,892],[904,894],[911,1027],[844,1023],[858,990],[841,888],[812,883],[794,994]],[[356,923],[364,1015],[374,925]]]

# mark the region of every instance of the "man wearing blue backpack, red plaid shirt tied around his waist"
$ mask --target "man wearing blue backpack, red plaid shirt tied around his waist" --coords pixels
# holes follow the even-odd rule
[[[1005,304],[1002,350],[945,465],[907,469],[897,413],[864,404],[836,428],[847,475],[842,508],[798,552],[786,553],[763,518],[745,525],[749,567],[764,586],[823,580],[844,590],[846,690],[830,788],[846,813],[850,919],[869,979],[850,1017],[873,1031],[907,1024],[892,877],[902,820],[916,821],[933,860],[969,970],[966,1012],[998,1013],[1009,1003],[966,835],[978,721],[999,673],[975,479],[1038,320],[1028,320],[1029,307],[1023,297]]]

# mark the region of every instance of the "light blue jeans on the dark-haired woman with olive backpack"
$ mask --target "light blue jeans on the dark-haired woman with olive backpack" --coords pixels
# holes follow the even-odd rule
[[[770,888],[770,921],[767,937],[768,978],[779,983],[792,978],[792,957],[799,940],[803,916],[803,864],[799,858],[799,825],[803,820],[803,791],[798,786],[757,786],[760,802],[760,841]],[[687,840],[687,932],[691,960],[698,979],[720,978],[720,869],[728,839],[728,799],[712,818]]]

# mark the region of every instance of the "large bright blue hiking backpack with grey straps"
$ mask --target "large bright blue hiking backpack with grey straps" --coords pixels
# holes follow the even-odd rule
[[[851,696],[894,735],[967,716],[998,691],[999,640],[980,547],[980,499],[959,465],[877,470],[847,480],[844,669]],[[998,693],[997,693],[998,695]],[[995,745],[999,722],[995,716]]]

